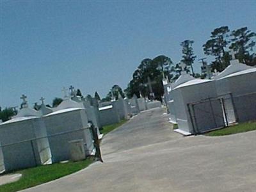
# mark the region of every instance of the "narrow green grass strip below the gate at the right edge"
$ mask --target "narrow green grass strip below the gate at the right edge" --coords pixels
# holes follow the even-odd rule
[[[239,132],[253,131],[256,130],[256,122],[246,122],[243,124],[234,125],[231,127],[207,132],[206,136],[223,136],[228,134],[236,134]]]

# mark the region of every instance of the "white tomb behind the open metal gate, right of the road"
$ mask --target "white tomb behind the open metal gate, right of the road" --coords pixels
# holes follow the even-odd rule
[[[176,131],[195,134],[223,127],[223,111],[220,101],[208,102],[209,98],[217,95],[213,80],[194,79],[182,83],[173,89],[172,95],[175,117],[179,125]],[[202,100],[206,101],[200,102]],[[197,103],[189,106],[193,102]],[[191,120],[192,116],[195,117],[193,120]]]

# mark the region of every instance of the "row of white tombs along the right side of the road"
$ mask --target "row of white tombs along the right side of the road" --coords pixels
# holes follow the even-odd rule
[[[234,56],[210,79],[195,79],[183,68],[177,81],[163,79],[163,84],[170,122],[184,135],[256,120],[256,68]]]

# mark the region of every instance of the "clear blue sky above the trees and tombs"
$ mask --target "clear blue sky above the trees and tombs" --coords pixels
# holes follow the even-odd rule
[[[70,84],[104,97],[113,84],[125,88],[144,58],[179,62],[183,40],[201,58],[214,28],[256,32],[256,1],[0,2],[2,107],[22,93],[31,106],[41,96],[51,104]]]

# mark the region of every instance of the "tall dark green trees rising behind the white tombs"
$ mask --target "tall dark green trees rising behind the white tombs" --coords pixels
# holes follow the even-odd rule
[[[206,56],[213,56],[214,60],[209,63],[211,71],[217,70],[221,72],[230,65],[229,50],[236,51],[236,58],[246,65],[256,65],[256,55],[253,52],[255,47],[256,33],[250,31],[247,27],[230,31],[228,26],[221,26],[211,32],[211,36],[204,45],[202,45]],[[204,74],[197,74],[194,71],[193,65],[196,55],[193,51],[193,40],[184,40],[180,43],[182,47],[182,59],[180,61],[186,64],[186,70],[194,77],[204,79]],[[168,77],[170,81],[175,81],[180,76],[179,63],[174,64],[168,56],[160,55],[154,59],[145,58],[141,61],[138,68],[132,74],[132,79],[128,83],[125,93],[127,97],[140,94],[143,97],[148,97],[148,77],[151,79],[152,88],[157,100],[161,100],[163,96],[163,77]]]

